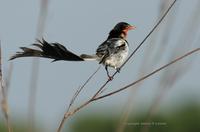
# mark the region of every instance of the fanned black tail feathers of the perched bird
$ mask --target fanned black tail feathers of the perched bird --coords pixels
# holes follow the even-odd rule
[[[38,47],[39,50],[27,47],[20,47],[22,51],[17,52],[15,55],[11,56],[10,60],[19,57],[44,57],[54,59],[53,61],[84,61],[81,57],[70,52],[59,43],[48,43],[47,41],[42,39],[37,40],[37,43],[34,43],[33,46]]]

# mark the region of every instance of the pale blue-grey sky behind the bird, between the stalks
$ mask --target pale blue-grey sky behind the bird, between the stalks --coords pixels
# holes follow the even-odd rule
[[[117,22],[126,21],[137,27],[136,30],[130,31],[128,36],[130,48],[133,51],[155,24],[160,1],[50,0],[44,38],[49,42],[62,43],[75,53],[94,53],[96,47],[106,39],[111,28]],[[178,19],[173,26],[173,33],[169,41],[171,46],[168,46],[166,56],[171,54],[170,49],[173,48],[173,43],[180,36],[185,26],[184,22],[191,15],[197,1],[179,0],[171,10],[170,13],[177,13]],[[0,3],[0,39],[3,52],[3,71],[4,75],[6,75],[10,64],[7,61],[9,56],[18,51],[20,46],[29,46],[35,41],[40,0],[0,0]],[[179,11],[177,12],[178,9]],[[165,18],[165,21],[167,19],[168,17]],[[196,36],[199,35],[198,33]],[[194,36],[194,39],[196,40],[197,37]],[[147,46],[148,42],[147,40],[134,59],[116,76],[112,84],[108,85],[110,88],[118,88],[138,78],[137,70],[142,62],[144,49],[149,48]],[[190,49],[191,47],[188,47],[188,50]],[[182,99],[181,92],[186,96],[185,98],[191,97],[190,95],[199,96],[200,89],[197,87],[200,86],[198,78],[200,57],[199,54],[195,54],[192,57],[197,55],[198,57],[194,59],[195,62],[192,64],[191,70],[178,81],[176,88],[170,91],[166,99],[167,102],[173,101],[176,97]],[[9,105],[12,116],[24,116],[27,113],[31,61],[31,58],[13,61],[14,69],[9,89]],[[98,67],[98,63],[50,62],[51,60],[48,59],[40,59],[36,117],[37,120],[45,121],[44,124],[47,126],[53,124],[53,127],[57,127],[73,93]],[[167,59],[163,59],[156,66],[158,67],[167,62]],[[151,99],[156,89],[154,84],[159,81],[159,75],[153,76],[144,83],[139,90],[138,100],[148,102],[147,100]],[[86,99],[89,95],[92,95],[105,80],[106,73],[102,67],[95,79],[88,85],[90,92],[88,90],[83,92],[79,99]],[[191,89],[187,90],[187,86],[191,87]],[[97,104],[93,103],[86,110],[90,110],[90,108],[103,110],[106,110],[106,108],[119,108],[121,107],[119,103],[125,102],[127,95],[127,91],[122,92]],[[94,109],[92,109],[93,112]],[[121,109],[119,108],[119,110]],[[26,119],[26,117],[24,118]]]

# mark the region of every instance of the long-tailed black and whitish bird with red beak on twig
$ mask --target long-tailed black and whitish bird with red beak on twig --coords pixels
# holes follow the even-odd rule
[[[105,70],[108,78],[111,80],[108,67],[114,68],[117,72],[120,72],[120,67],[128,57],[129,43],[127,41],[127,35],[129,30],[133,30],[136,27],[128,24],[127,22],[119,22],[109,32],[107,39],[101,43],[96,53],[77,55],[69,51],[65,46],[60,43],[49,43],[44,38],[37,39],[32,45],[36,48],[20,47],[22,51],[16,52],[9,60],[13,60],[20,57],[43,57],[53,59],[55,61],[88,61],[96,60],[99,64],[105,66]]]

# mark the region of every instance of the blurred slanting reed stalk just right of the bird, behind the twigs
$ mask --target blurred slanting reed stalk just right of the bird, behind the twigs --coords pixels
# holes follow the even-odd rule
[[[158,17],[157,17],[158,20],[160,17],[162,17],[162,15],[164,14],[164,12],[167,10],[168,6],[172,2],[173,2],[173,0],[162,0],[161,1],[160,9],[158,11]],[[178,9],[176,9],[176,10],[178,10]],[[169,36],[170,36],[171,28],[167,28],[167,27],[173,25],[174,20],[175,20],[175,17],[174,17],[175,14],[176,14],[176,12],[169,13],[168,19],[166,19],[164,21],[164,24],[160,25],[159,28],[152,34],[152,37],[150,38],[150,41],[149,41],[149,46],[151,47],[152,50],[149,50],[149,48],[145,50],[144,57],[142,59],[143,61],[141,63],[141,67],[138,70],[139,71],[138,76],[144,76],[148,70],[153,69],[153,67],[160,61],[161,56],[163,55],[163,54],[160,54],[160,52],[165,51],[165,47],[168,44],[167,40],[169,39]],[[164,27],[164,29],[163,29],[163,27]],[[160,32],[162,30],[164,30],[165,32],[163,33],[163,36],[162,36],[162,43],[161,43],[162,45],[161,45],[161,44],[158,44],[157,37],[158,37],[158,34],[160,34]],[[165,42],[165,44],[163,44],[164,42]],[[158,46],[160,45],[159,48],[156,48],[157,45]],[[154,56],[154,54],[156,54],[156,55]],[[153,56],[153,58],[152,58],[152,56]],[[155,62],[155,63],[152,63],[152,62]],[[125,126],[123,126],[123,122],[126,122],[128,120],[129,114],[133,110],[134,99],[135,99],[134,95],[137,95],[138,89],[140,88],[141,85],[142,85],[142,83],[137,85],[136,88],[132,89],[129,94],[129,97],[126,101],[124,112],[121,115],[118,132],[124,131]]]

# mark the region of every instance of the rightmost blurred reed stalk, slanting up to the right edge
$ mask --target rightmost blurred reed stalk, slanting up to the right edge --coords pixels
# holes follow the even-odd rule
[[[200,11],[199,6],[200,2],[198,2],[196,8],[194,8],[194,11],[191,14],[191,17],[185,24],[185,28],[183,29],[181,37],[178,39],[176,47],[172,51],[170,58],[177,56],[177,54],[182,54],[188,48],[195,47],[195,45],[198,46],[199,40],[197,42],[194,42],[195,40],[194,36],[198,34],[198,30],[196,29],[198,29],[200,22],[200,17],[198,15]],[[188,45],[188,43],[190,43],[190,45]],[[180,79],[184,74],[187,73],[187,71],[191,69],[193,61],[194,58],[190,59],[185,64],[177,65],[176,67],[173,67],[172,69],[169,69],[168,71],[162,74],[161,81],[158,86],[159,87],[158,95],[156,96],[152,105],[150,106],[145,122],[150,122],[152,116],[158,110],[159,104],[165,98],[165,96],[167,95],[169,90],[173,87],[173,85],[178,81],[178,79]],[[142,132],[148,132],[148,127],[144,126]]]

